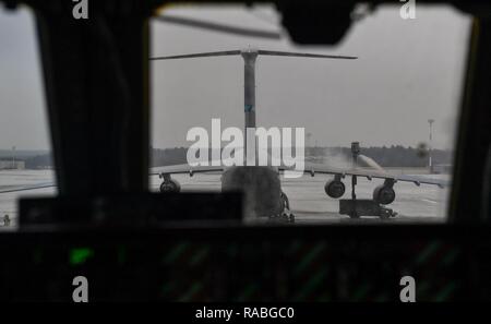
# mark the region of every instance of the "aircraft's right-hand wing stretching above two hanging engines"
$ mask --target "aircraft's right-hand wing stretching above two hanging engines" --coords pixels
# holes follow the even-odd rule
[[[280,167],[280,171],[284,170],[295,170],[294,168],[287,168],[287,167]],[[304,173],[324,173],[324,175],[340,175],[340,176],[359,176],[364,177],[369,180],[372,178],[378,179],[391,179],[395,181],[405,181],[405,182],[412,182],[416,185],[423,184],[433,184],[438,185],[440,188],[448,187],[450,181],[442,180],[442,179],[432,179],[429,177],[423,176],[409,176],[409,175],[391,175],[388,172],[382,171],[382,170],[370,170],[370,169],[349,169],[349,168],[337,168],[337,167],[331,167],[322,164],[306,164],[304,166]]]

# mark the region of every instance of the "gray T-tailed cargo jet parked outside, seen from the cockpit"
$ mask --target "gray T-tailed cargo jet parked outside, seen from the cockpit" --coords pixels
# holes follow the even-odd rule
[[[155,57],[151,60],[173,60],[173,59],[191,59],[206,57],[224,57],[224,56],[241,56],[244,62],[244,127],[246,129],[254,129],[255,125],[255,61],[259,56],[278,56],[278,57],[299,57],[299,58],[318,58],[318,59],[346,59],[352,60],[357,57],[349,56],[330,56],[302,52],[286,52],[261,49],[243,49],[228,50],[216,52],[201,52],[179,56]],[[352,145],[354,160],[359,154],[358,144]],[[247,147],[247,144],[244,144]],[[247,151],[246,151],[247,152]],[[256,155],[255,155],[256,156]],[[362,157],[362,156],[361,156]],[[247,158],[247,157],[246,157]],[[248,218],[268,217],[271,219],[283,219],[294,221],[294,215],[290,213],[288,197],[282,191],[279,173],[291,170],[291,167],[279,166],[190,166],[173,165],[165,167],[156,167],[149,169],[151,176],[159,176],[163,179],[160,192],[179,192],[180,184],[171,178],[176,173],[189,173],[193,176],[195,172],[221,172],[221,190],[223,191],[241,191],[244,194],[244,216]],[[385,179],[384,184],[378,187],[373,191],[373,202],[376,204],[387,205],[395,200],[394,183],[397,181],[414,182],[417,185],[421,183],[445,187],[447,183],[442,180],[424,179],[415,176],[393,176],[383,169],[376,170],[359,169],[354,164],[351,168],[335,168],[323,164],[306,164],[303,172],[311,175],[325,173],[334,176],[327,181],[324,189],[326,194],[333,199],[339,199],[344,195],[346,187],[343,179],[346,176],[351,177],[352,197],[355,199],[355,185],[357,177],[364,177],[369,180],[372,178]],[[14,192],[23,190],[39,189],[53,187],[53,183],[41,183],[38,185],[4,188],[0,189],[0,193]]]

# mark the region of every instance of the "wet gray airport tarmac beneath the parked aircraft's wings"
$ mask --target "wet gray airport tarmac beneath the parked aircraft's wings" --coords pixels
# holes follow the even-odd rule
[[[443,175],[421,175],[421,177],[435,177],[447,179]],[[183,191],[219,191],[220,176],[215,173],[197,173],[193,177],[188,175],[172,176],[181,183]],[[50,182],[53,179],[51,170],[1,170],[0,188],[10,185],[27,185]],[[381,220],[376,217],[361,217],[360,219],[350,219],[346,215],[339,215],[338,201],[330,199],[324,192],[324,184],[331,177],[315,175],[315,177],[303,176],[296,179],[283,179],[282,185],[284,192],[288,195],[290,207],[296,216],[297,224],[316,224],[316,223],[439,223],[445,221],[447,207],[447,189],[440,189],[435,185],[417,187],[414,183],[397,182],[394,187],[396,200],[388,205],[388,208],[395,211],[398,215],[387,220]],[[372,191],[376,185],[383,183],[383,180],[373,179],[369,181],[366,178],[358,178],[357,197],[371,199]],[[152,191],[158,191],[160,180],[158,177],[151,178]],[[344,199],[350,197],[350,179],[345,179],[346,193]],[[16,200],[21,196],[50,196],[56,194],[56,188],[45,188],[31,191],[0,194],[0,226],[3,215],[11,218],[10,229],[15,229],[17,224]],[[2,227],[3,228],[3,227]],[[5,228],[3,228],[5,229]]]

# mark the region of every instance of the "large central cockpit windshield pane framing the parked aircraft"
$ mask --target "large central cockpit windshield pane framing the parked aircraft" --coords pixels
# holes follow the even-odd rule
[[[451,7],[420,5],[414,20],[403,19],[399,9],[385,5],[360,16],[335,47],[294,44],[273,7],[172,7],[160,12],[152,21],[153,58],[232,52],[151,62],[152,166],[184,165],[182,172],[170,175],[168,185],[152,177],[152,190],[173,190],[172,184],[181,191],[241,189],[248,213],[258,216],[258,205],[279,199],[298,224],[350,221],[350,216],[367,221],[385,216],[396,223],[445,220],[470,20]],[[182,20],[282,36],[248,37],[176,22]],[[261,50],[357,59],[271,56]],[[258,53],[253,84],[244,51]],[[248,88],[255,89],[252,104]],[[265,142],[270,155],[275,143],[283,152],[288,148],[282,140],[284,130],[291,130],[292,156],[303,144],[304,158],[290,168],[304,170],[303,176],[280,175],[279,187],[271,184],[274,176],[244,176],[240,169],[227,172],[217,167],[216,172],[189,177],[190,163],[209,161],[207,168],[213,169],[214,159],[233,159],[224,148],[247,142],[243,130],[252,118],[248,110],[255,112],[258,128],[276,134]],[[354,142],[359,143],[355,156]],[[246,151],[235,161],[247,157]],[[277,166],[287,163],[284,157],[279,154]],[[354,170],[357,179],[349,175]],[[237,179],[258,183],[241,184]],[[354,180],[358,203],[350,202]]]

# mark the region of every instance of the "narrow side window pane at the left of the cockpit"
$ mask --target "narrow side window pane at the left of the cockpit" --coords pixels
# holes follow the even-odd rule
[[[0,8],[0,230],[9,230],[17,228],[19,197],[56,188],[32,11]],[[44,188],[5,192],[27,187]]]

